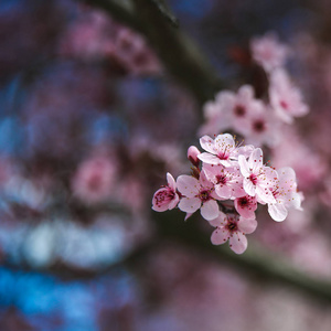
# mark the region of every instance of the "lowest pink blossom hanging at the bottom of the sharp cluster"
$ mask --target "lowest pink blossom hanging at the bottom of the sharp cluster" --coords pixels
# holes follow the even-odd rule
[[[250,234],[256,229],[255,218],[244,218],[237,214],[227,214],[220,212],[216,220],[210,222],[215,226],[211,241],[214,245],[222,245],[228,241],[229,248],[242,254],[247,248],[247,238],[245,234]]]

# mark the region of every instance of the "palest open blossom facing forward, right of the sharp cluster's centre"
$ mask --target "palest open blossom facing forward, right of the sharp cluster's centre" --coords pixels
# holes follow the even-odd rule
[[[277,180],[277,172],[270,167],[263,164],[263,151],[256,148],[249,156],[248,161],[239,156],[238,163],[244,177],[243,186],[248,195],[255,194],[266,203],[274,203],[275,197],[270,192],[271,185]]]

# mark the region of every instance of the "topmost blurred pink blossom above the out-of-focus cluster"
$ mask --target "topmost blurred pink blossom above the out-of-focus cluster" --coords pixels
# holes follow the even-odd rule
[[[250,42],[252,56],[266,72],[285,64],[289,55],[288,46],[279,43],[274,33],[267,33],[260,38],[254,38]]]

